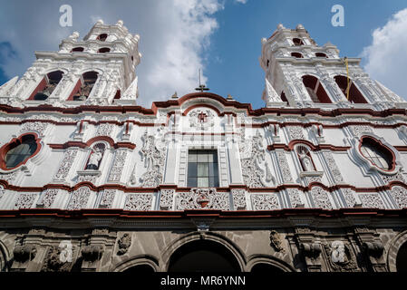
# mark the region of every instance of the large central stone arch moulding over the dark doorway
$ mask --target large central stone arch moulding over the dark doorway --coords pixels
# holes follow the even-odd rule
[[[208,243],[211,243],[211,245],[218,244],[216,247],[217,250],[222,249],[224,253],[228,253],[228,257],[232,258],[234,260],[234,265],[237,267],[237,271],[243,271],[246,265],[246,257],[244,256],[243,252],[241,251],[240,248],[237,247],[232,241],[230,241],[227,237],[223,237],[221,235],[218,235],[216,233],[205,233],[203,234],[204,236],[201,236],[199,232],[193,232],[188,234],[187,236],[180,237],[179,239],[175,240],[169,247],[167,247],[163,252],[162,252],[162,260],[164,262],[165,269],[164,271],[169,271],[170,269],[170,264],[171,264],[171,256],[173,256],[174,253],[178,249],[181,249],[182,247],[186,245],[193,245],[190,244],[192,242],[197,242],[197,241],[202,241],[205,240]],[[185,248],[186,250],[189,249],[189,247]],[[182,252],[181,252],[182,254]],[[178,254],[179,255],[179,254]],[[173,261],[172,261],[173,262]]]

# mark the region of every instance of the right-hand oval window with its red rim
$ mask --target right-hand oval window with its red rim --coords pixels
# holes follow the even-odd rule
[[[378,140],[364,136],[359,150],[363,157],[369,160],[373,166],[386,171],[395,168],[395,158],[392,150],[383,146]]]

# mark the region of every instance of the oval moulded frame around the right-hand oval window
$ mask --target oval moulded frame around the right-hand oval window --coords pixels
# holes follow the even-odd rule
[[[373,164],[373,162],[371,160],[369,160],[367,157],[365,157],[362,153],[362,145],[363,145],[363,139],[371,139],[374,142],[376,142],[377,144],[379,144],[380,146],[382,146],[385,150],[388,150],[391,155],[392,155],[392,161],[391,163],[391,169],[381,169],[380,167],[378,167],[377,165]],[[386,144],[386,142],[382,139],[382,138],[377,138],[371,135],[363,135],[361,136],[361,138],[359,139],[359,144],[357,146],[357,150],[356,152],[358,153],[359,157],[368,165],[369,169],[374,169],[377,170],[383,174],[387,174],[387,175],[392,175],[397,173],[397,171],[400,169],[400,165],[398,165],[398,161],[399,158],[397,156],[396,151],[392,148],[392,146]]]

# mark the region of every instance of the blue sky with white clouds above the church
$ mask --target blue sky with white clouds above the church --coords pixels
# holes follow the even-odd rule
[[[223,97],[264,106],[261,39],[277,24],[303,24],[319,45],[334,43],[341,57],[360,57],[374,80],[407,97],[405,0],[0,0],[0,84],[22,76],[34,51],[57,51],[73,31],[80,38],[98,19],[121,19],[139,34],[138,103],[194,92],[203,82]],[[59,24],[61,5],[73,8],[73,25]],[[344,6],[344,26],[334,27],[333,5]]]

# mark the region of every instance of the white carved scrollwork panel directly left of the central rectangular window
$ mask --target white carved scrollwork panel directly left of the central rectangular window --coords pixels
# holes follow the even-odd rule
[[[166,158],[166,144],[161,138],[148,135],[147,131],[142,136],[141,160],[144,161],[146,172],[141,176],[143,188],[156,188],[163,178]]]

